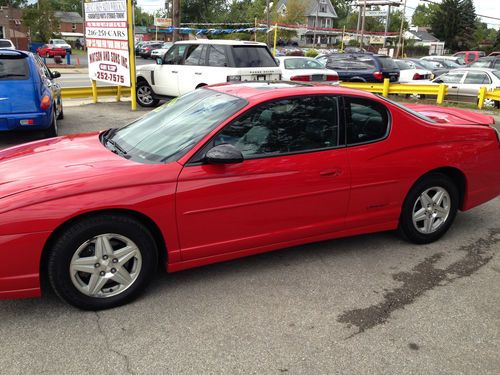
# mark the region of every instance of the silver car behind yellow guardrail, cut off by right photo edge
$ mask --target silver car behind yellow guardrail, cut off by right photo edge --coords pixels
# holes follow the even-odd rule
[[[448,73],[433,80],[434,83],[444,83],[448,86],[446,98],[452,101],[467,101],[476,103],[479,89],[483,86],[489,90],[500,87],[500,70],[486,68],[462,68],[450,70]],[[485,105],[495,105],[499,102],[485,101]]]

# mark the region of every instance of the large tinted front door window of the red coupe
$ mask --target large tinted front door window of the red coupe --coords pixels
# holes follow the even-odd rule
[[[229,143],[246,159],[339,145],[337,99],[309,96],[258,105],[227,125],[213,146]]]

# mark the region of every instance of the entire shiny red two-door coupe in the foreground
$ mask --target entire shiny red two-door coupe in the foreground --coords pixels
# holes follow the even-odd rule
[[[420,111],[422,113],[418,113]],[[492,118],[331,86],[203,88],[100,134],[0,152],[0,298],[82,309],[169,272],[398,229],[428,243],[500,193]]]

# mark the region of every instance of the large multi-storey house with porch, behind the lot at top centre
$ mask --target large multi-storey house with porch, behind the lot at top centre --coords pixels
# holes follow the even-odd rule
[[[288,0],[279,0],[277,11],[281,15],[286,14]],[[334,44],[339,33],[331,30],[333,21],[338,18],[337,12],[330,0],[302,0],[304,5],[304,28],[297,31],[301,45],[312,44]]]

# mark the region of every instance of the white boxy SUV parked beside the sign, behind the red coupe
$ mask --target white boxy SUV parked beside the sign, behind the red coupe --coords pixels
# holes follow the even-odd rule
[[[281,69],[264,43],[186,40],[176,42],[156,64],[137,67],[137,102],[154,107],[160,99],[206,85],[280,78]]]

